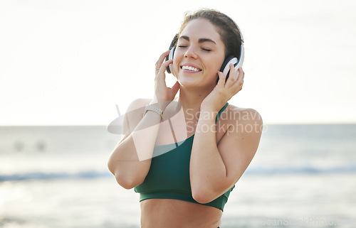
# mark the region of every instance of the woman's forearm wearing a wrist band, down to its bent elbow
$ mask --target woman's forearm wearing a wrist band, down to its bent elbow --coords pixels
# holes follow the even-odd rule
[[[132,133],[112,152],[108,168],[122,187],[133,188],[145,180],[160,121],[159,114],[147,112]]]

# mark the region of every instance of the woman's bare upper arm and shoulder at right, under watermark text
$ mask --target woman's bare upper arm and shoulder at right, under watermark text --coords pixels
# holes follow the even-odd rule
[[[228,129],[218,144],[226,167],[224,192],[229,190],[244,173],[255,155],[261,139],[263,122],[254,109],[244,109],[229,119]]]

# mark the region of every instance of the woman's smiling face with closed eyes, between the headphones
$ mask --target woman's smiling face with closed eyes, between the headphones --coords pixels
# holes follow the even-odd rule
[[[174,51],[173,74],[183,86],[216,85],[225,45],[210,21],[197,18],[183,29]]]

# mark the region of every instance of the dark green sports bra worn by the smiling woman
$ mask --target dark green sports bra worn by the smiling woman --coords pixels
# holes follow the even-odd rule
[[[224,107],[220,109],[216,115],[215,122],[219,119],[219,116],[224,112],[228,104],[226,102]],[[194,135],[179,143],[155,146],[150,170],[143,183],[134,188],[135,192],[140,193],[140,202],[142,200],[159,198],[199,203],[192,197],[189,178],[189,163],[193,139]],[[167,146],[172,147],[172,149],[167,150]],[[168,152],[162,153],[162,151]],[[224,210],[224,205],[234,187],[204,205]]]

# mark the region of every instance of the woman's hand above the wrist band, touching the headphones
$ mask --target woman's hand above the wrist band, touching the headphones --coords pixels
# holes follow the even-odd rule
[[[166,56],[169,55],[170,50],[167,50],[165,53],[159,57],[156,63],[156,77],[155,77],[155,97],[153,103],[159,104],[159,108],[166,109],[167,105],[172,102],[179,90],[179,82],[177,81],[172,88],[167,87],[166,85],[166,70],[169,64],[173,63],[173,60],[164,61]]]

